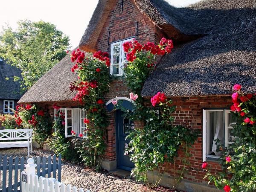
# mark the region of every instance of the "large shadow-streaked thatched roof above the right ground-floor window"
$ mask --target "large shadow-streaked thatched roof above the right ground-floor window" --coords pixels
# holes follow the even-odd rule
[[[205,0],[178,10],[191,15],[191,32],[206,35],[165,55],[142,95],[225,95],[236,83],[255,93],[256,1]]]

